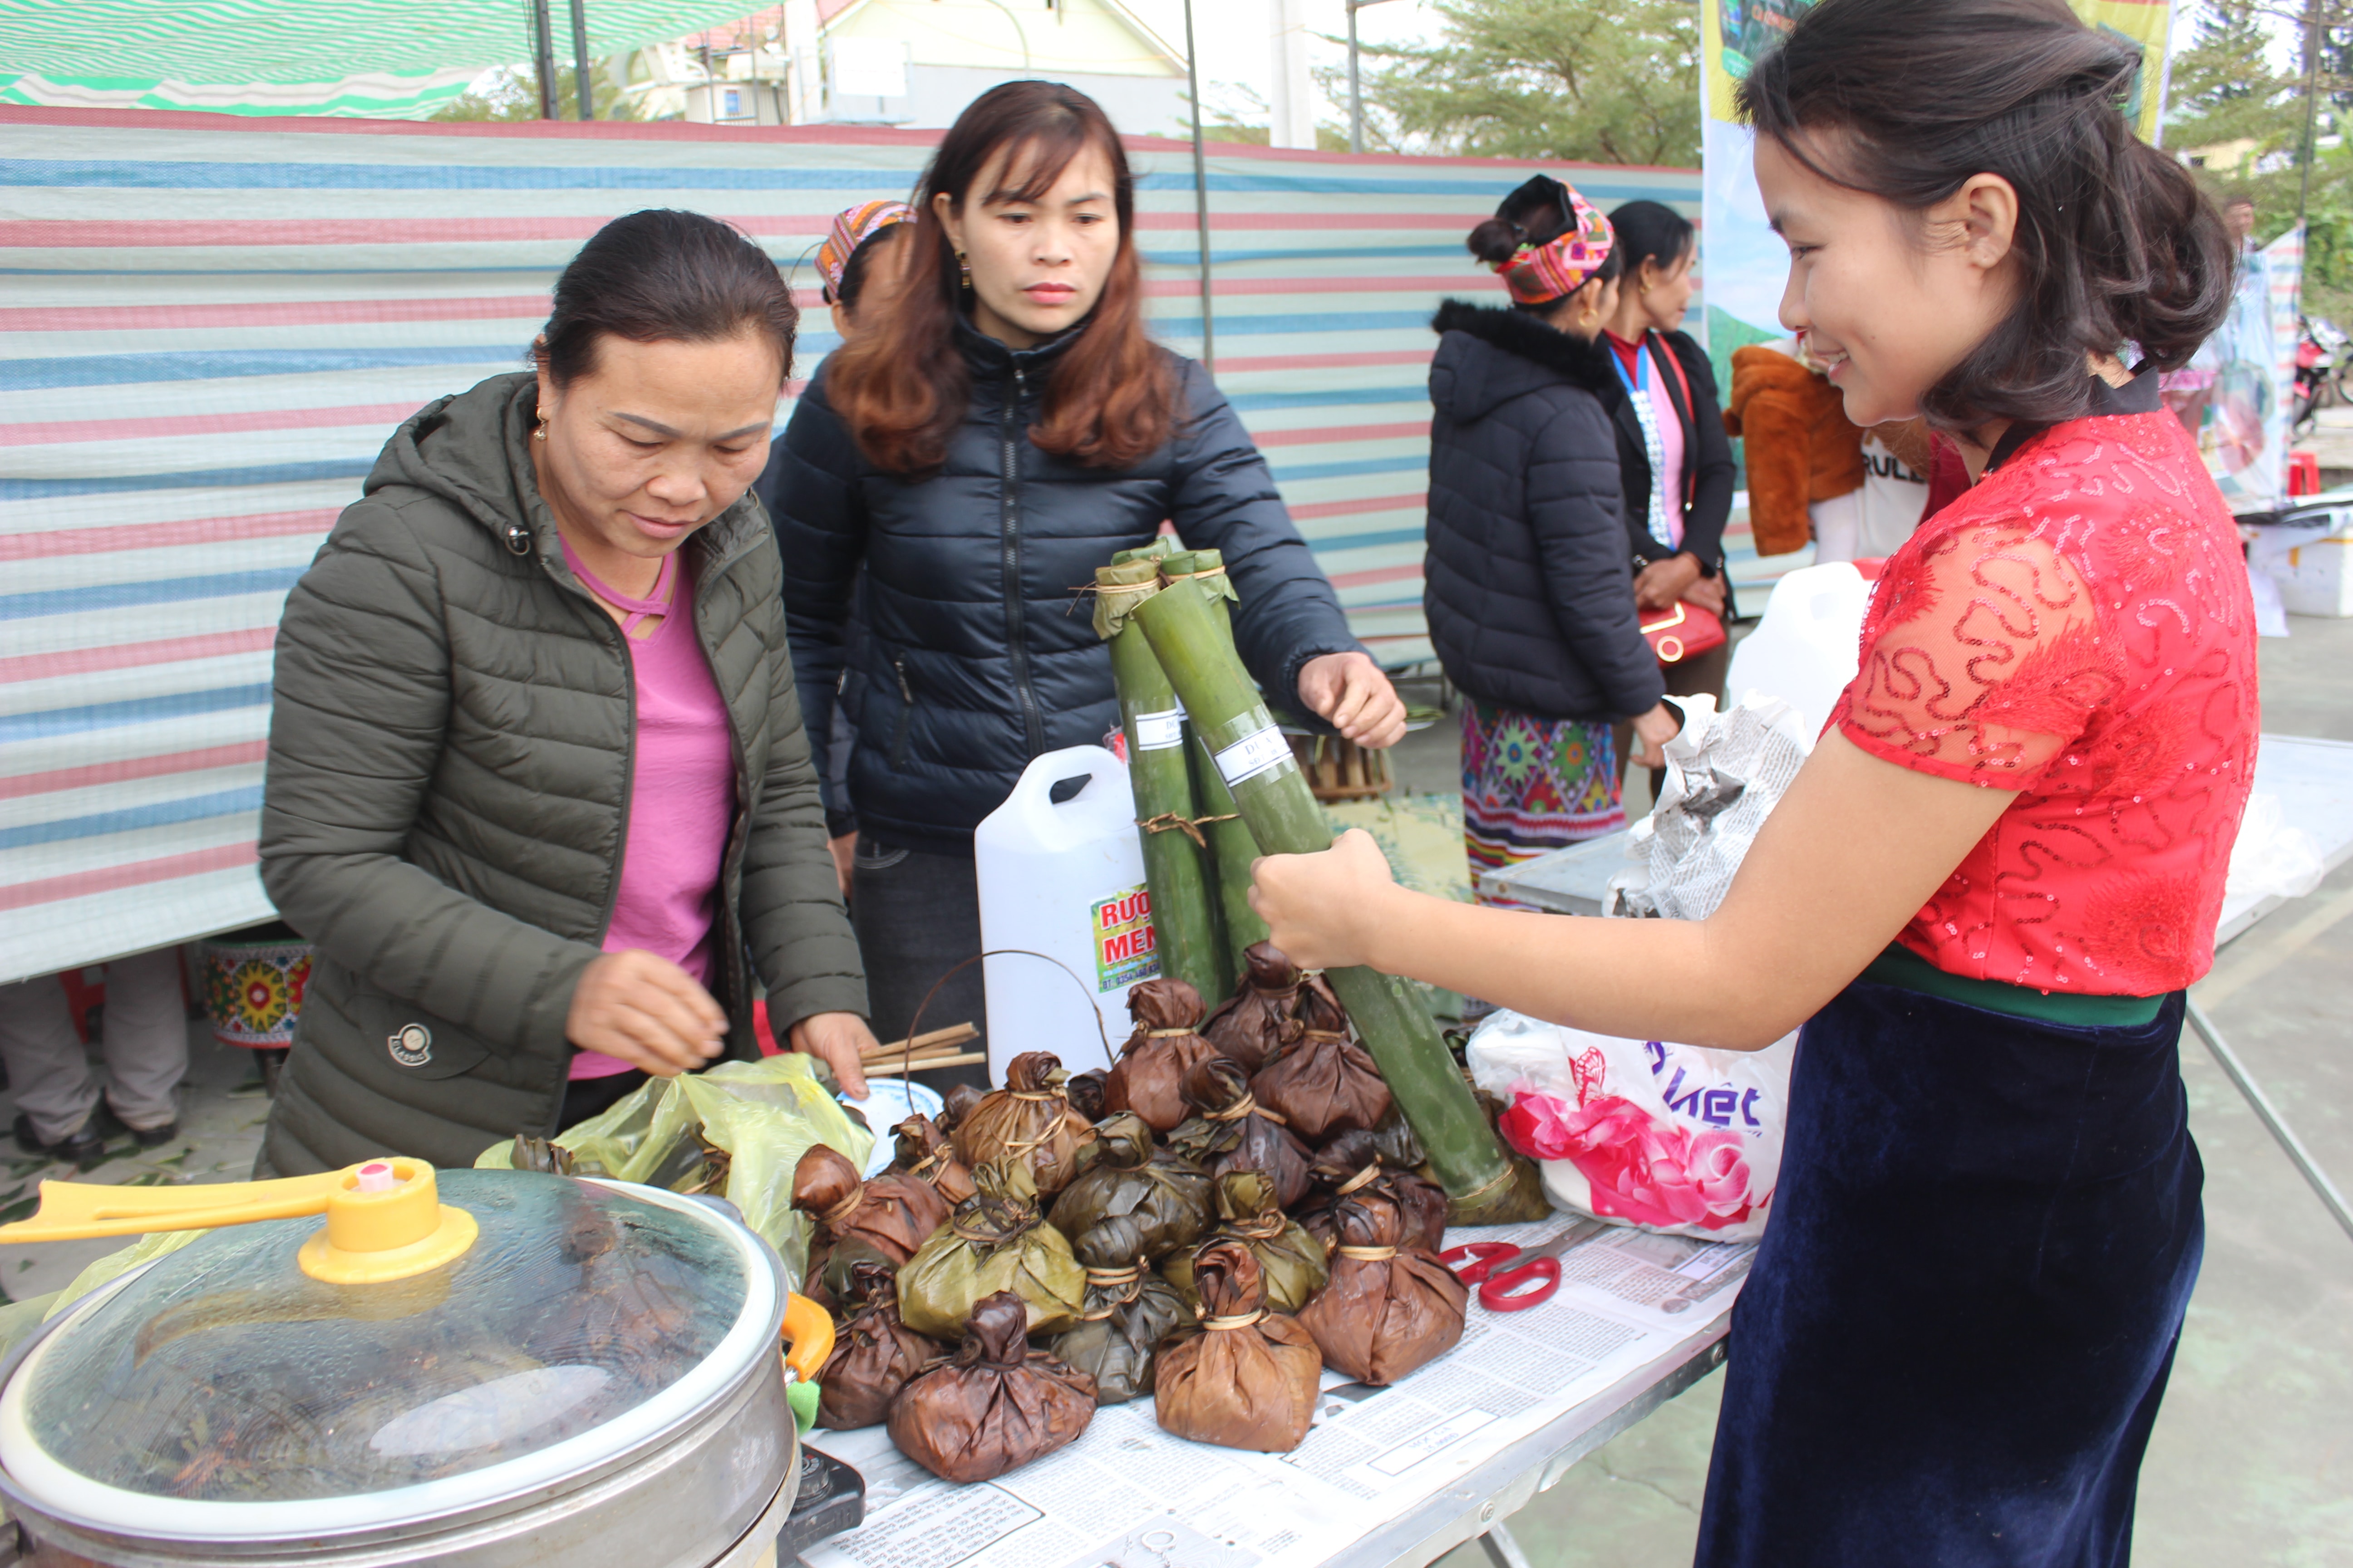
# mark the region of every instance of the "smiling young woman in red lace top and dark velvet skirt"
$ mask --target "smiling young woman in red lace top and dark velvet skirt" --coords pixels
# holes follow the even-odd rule
[[[1974,487],[1894,555],[1812,759],[1706,922],[1259,865],[1301,964],[1586,1030],[1805,1025],[1704,1568],[2120,1566],[2202,1244],[2177,1063],[2257,738],[2231,517],[2158,404],[2231,240],[2061,0],[1821,0],[1741,87],[1781,322]],[[2129,364],[2129,369],[2127,369]]]

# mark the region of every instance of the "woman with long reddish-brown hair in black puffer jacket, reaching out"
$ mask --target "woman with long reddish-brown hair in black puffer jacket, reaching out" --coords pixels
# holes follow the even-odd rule
[[[976,954],[972,830],[1028,762],[1118,729],[1075,590],[1162,520],[1224,550],[1233,637],[1275,705],[1393,745],[1405,705],[1249,433],[1144,331],[1134,183],[1092,99],[981,94],[939,143],[906,266],[793,409],[762,498],[812,741],[849,708],[852,919],[882,1039]],[[845,663],[849,583],[866,637]],[[824,771],[826,759],[819,757]],[[984,1023],[979,966],[925,1018]],[[1052,1041],[1021,1041],[1019,1048]]]

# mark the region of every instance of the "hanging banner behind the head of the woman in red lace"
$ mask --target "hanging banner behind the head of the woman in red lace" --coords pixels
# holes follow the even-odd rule
[[[1704,181],[1706,343],[1718,386],[1732,386],[1732,350],[1788,336],[1781,282],[1788,249],[1765,221],[1751,172],[1751,134],[1732,110],[1732,89],[1772,52],[1814,0],[1701,0],[1699,141]],[[2073,0],[2075,14],[2141,49],[2125,110],[2144,141],[2158,139],[2172,40],[2169,0]],[[1892,71],[1901,61],[1889,63]]]

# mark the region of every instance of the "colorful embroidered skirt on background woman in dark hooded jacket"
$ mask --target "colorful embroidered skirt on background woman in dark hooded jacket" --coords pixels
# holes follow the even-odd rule
[[[1464,851],[1473,884],[1482,870],[1624,825],[1609,724],[1539,719],[1464,698]]]

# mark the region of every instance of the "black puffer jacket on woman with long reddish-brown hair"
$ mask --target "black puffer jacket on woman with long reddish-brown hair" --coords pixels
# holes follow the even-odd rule
[[[1082,468],[1031,444],[1068,341],[1014,353],[960,324],[972,407],[944,470],[918,482],[866,461],[819,367],[760,482],[819,769],[840,698],[856,726],[849,806],[889,844],[969,853],[1031,757],[1118,726],[1111,656],[1075,590],[1162,520],[1186,545],[1226,552],[1233,639],[1275,705],[1297,708],[1308,658],[1362,646],[1200,364],[1169,355],[1188,418],[1136,468]],[[861,559],[866,625],[845,656]]]

